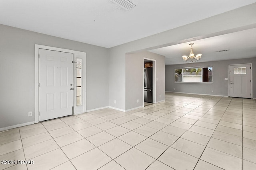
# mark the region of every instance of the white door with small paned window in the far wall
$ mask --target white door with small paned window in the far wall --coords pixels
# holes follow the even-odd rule
[[[252,98],[251,64],[230,65],[230,97]]]

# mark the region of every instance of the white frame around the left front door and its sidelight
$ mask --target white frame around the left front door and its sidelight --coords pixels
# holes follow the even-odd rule
[[[70,49],[62,49],[57,47],[50,47],[46,45],[38,45],[35,44],[35,123],[39,122],[39,49],[60,51],[66,53],[72,53],[74,58],[82,58],[82,106],[75,106],[76,103],[76,91],[74,90],[73,98],[74,98],[74,115],[81,114],[86,112],[86,53],[81,51],[74,51]],[[76,71],[75,67],[73,68],[73,78],[74,78],[74,87],[76,87]]]

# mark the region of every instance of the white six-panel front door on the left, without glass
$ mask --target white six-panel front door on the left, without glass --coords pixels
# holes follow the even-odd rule
[[[39,49],[39,121],[72,115],[73,54]]]

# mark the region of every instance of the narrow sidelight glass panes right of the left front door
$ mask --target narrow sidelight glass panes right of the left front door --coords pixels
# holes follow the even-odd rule
[[[82,105],[82,59],[76,59],[76,106]]]

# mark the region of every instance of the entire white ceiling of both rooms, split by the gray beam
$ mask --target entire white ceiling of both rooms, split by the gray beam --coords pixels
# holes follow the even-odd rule
[[[130,1],[136,6],[126,11],[111,0],[0,0],[0,24],[111,48],[256,2]],[[194,53],[202,53],[201,61],[256,57],[255,36],[250,29],[193,41]],[[190,52],[188,44],[150,51],[166,56],[166,64],[180,64]]]

